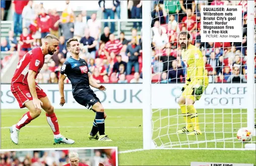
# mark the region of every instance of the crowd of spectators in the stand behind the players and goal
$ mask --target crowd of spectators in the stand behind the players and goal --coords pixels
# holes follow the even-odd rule
[[[4,2],[1,0],[1,8]],[[113,34],[115,22],[111,22],[109,27],[108,23],[104,23],[104,31],[101,32],[101,22],[96,13],[88,16],[86,11],[82,11],[75,16],[69,1],[65,1],[66,9],[61,15],[55,9],[46,11],[42,3],[33,5],[33,1],[17,0],[13,3],[14,32],[10,31],[9,37],[2,40],[1,51],[15,51],[20,45],[19,54],[22,57],[25,52],[41,46],[47,34],[55,35],[60,41],[58,51],[46,56],[37,77],[39,83],[58,82],[60,67],[70,56],[66,42],[73,37],[80,41],[80,57],[88,62],[97,82],[142,82],[142,36],[138,35],[141,22],[134,22],[132,39],[126,40],[123,32],[118,36]],[[103,19],[120,19],[119,1],[99,1],[98,4]],[[127,4],[129,18],[141,19],[142,1],[128,1]],[[201,42],[202,5],[241,5],[242,42]],[[181,31],[189,33],[191,44],[202,50],[210,82],[246,82],[247,1],[152,1],[151,8],[153,82],[184,82],[185,66],[177,40]],[[66,83],[69,83],[68,79]]]

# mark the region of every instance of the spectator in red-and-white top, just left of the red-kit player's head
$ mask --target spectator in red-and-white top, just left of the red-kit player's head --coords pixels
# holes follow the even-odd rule
[[[32,50],[32,43],[34,42],[34,39],[32,38],[32,35],[28,33],[27,28],[23,28],[22,34],[20,36],[19,44],[21,45],[22,51],[30,51]]]

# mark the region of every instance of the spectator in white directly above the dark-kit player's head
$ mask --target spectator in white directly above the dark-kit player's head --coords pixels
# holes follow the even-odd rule
[[[85,29],[87,28],[86,27],[86,24],[83,23],[83,18],[82,18],[82,15],[79,14],[77,17],[76,17],[76,22],[74,24],[74,38],[77,38],[78,41],[81,40],[81,38],[84,36],[84,33],[85,33]]]

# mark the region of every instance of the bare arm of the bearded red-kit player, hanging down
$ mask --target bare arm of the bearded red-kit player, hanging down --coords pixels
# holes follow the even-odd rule
[[[28,71],[28,86],[31,96],[33,97],[33,103],[36,108],[41,109],[41,104],[43,104],[38,98],[36,93],[36,81],[35,81],[36,72],[33,70]]]

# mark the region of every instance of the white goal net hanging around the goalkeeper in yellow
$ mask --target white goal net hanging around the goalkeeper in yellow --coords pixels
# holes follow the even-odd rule
[[[248,127],[252,133],[254,132],[255,14],[252,18],[253,22],[249,23],[246,1],[183,1],[183,4],[181,3],[182,1],[152,1],[150,4],[152,31],[150,148],[244,148],[244,143],[238,141],[236,134],[242,127]],[[200,10],[203,5],[241,5],[242,20],[239,21],[242,22],[242,41],[201,42]],[[253,31],[247,29],[249,26],[253,27]],[[145,28],[143,33],[144,30]],[[187,75],[178,40],[180,32],[189,34],[189,43],[202,52],[205,72],[209,79],[207,89],[201,99],[194,104],[202,135],[178,133],[178,130],[186,126],[180,106],[177,104]],[[143,40],[146,39],[144,35]],[[145,66],[145,63],[143,64]],[[143,68],[145,73],[144,69],[146,70],[146,67]],[[144,114],[146,113],[144,110]],[[146,133],[144,133],[144,141],[148,141],[149,138],[145,136]],[[255,136],[252,136],[250,143],[255,143]]]

